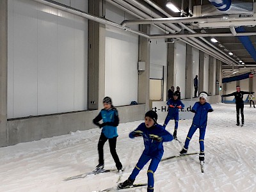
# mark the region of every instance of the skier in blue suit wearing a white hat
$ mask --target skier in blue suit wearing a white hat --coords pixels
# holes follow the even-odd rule
[[[195,113],[195,116],[193,118],[192,125],[189,129],[184,147],[180,151],[180,154],[186,154],[186,152],[188,151],[189,141],[191,140],[196,129],[199,128],[199,144],[200,144],[199,160],[200,161],[204,161],[204,136],[205,136],[205,129],[207,125],[207,115],[209,112],[213,111],[211,104],[206,102],[207,97],[208,95],[206,92],[201,92],[199,95],[199,102],[196,102],[193,108],[191,109],[191,112]]]

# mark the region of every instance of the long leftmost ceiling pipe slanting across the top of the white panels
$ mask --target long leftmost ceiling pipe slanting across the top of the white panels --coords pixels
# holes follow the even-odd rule
[[[77,9],[72,8],[70,6],[66,6],[65,4],[57,3],[57,2],[51,1],[51,0],[33,0],[33,1],[45,4],[47,6],[51,6],[53,8],[57,8],[58,10],[63,10],[65,12],[72,13],[74,15],[79,15],[79,16],[84,17],[86,19],[90,19],[90,20],[93,20],[95,22],[99,22],[100,24],[105,24],[105,25],[112,26],[112,27],[115,27],[115,28],[118,28],[118,29],[123,29],[125,31],[129,31],[129,32],[138,34],[140,36],[144,36],[146,38],[149,38],[149,36],[147,34],[141,32],[141,31],[134,30],[134,29],[131,29],[131,28],[126,28],[126,27],[123,28],[120,24],[109,21],[107,19],[103,19],[101,17],[97,17],[97,16],[92,15],[90,13],[82,12],[81,10],[77,10]]]

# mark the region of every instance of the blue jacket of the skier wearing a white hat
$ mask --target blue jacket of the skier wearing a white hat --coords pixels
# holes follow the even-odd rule
[[[196,102],[191,109],[191,112],[195,113],[193,118],[193,124],[198,127],[206,127],[207,125],[207,115],[209,112],[212,112],[213,109],[211,104],[205,102],[201,104],[200,102]]]

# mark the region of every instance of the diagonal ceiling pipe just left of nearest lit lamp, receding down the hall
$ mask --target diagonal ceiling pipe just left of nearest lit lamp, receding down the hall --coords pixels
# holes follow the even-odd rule
[[[170,15],[169,13],[165,12],[163,10],[163,8],[159,7],[156,3],[152,2],[151,0],[144,0],[145,2],[147,2],[148,4],[150,4],[151,6],[153,6],[154,8],[156,8],[156,10],[158,10],[159,12],[163,13],[164,15],[166,15],[166,17],[172,17],[172,15]],[[193,29],[190,29],[188,26],[182,24],[182,23],[179,23],[179,25],[188,30],[190,33],[196,33],[195,31],[193,31]],[[216,50],[218,51],[218,55],[220,56],[220,53],[223,54],[223,56],[225,56],[226,60],[230,61],[230,63],[234,64],[234,65],[237,65],[239,64],[238,61],[234,60],[233,58],[231,58],[230,56],[228,56],[225,52],[221,51],[220,49],[218,49],[218,47],[215,47],[214,45],[212,45],[210,42],[208,42],[207,40],[205,40],[205,38],[203,37],[200,37],[200,39],[202,41],[204,41],[206,44],[210,45],[213,49],[212,50]],[[193,38],[193,41],[195,41],[195,44],[197,44],[198,42],[200,42],[200,40],[197,40],[196,38]],[[206,45],[204,45],[205,47]],[[211,56],[215,57],[215,55],[211,54]]]

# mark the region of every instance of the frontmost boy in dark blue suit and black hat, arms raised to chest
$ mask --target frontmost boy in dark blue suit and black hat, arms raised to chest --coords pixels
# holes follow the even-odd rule
[[[155,111],[148,111],[145,114],[145,123],[140,124],[137,129],[129,134],[130,138],[143,137],[145,149],[141,154],[141,157],[136,164],[134,170],[127,180],[118,184],[118,189],[125,189],[131,186],[148,161],[151,162],[148,166],[148,192],[154,191],[154,172],[156,172],[157,166],[162,159],[164,148],[164,141],[172,141],[173,136],[164,129],[161,125],[157,124],[157,113]]]

